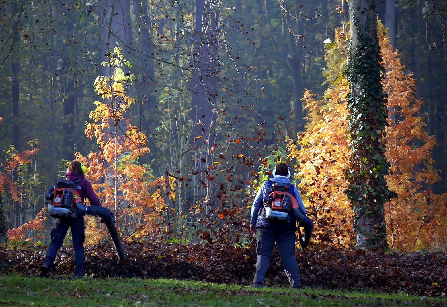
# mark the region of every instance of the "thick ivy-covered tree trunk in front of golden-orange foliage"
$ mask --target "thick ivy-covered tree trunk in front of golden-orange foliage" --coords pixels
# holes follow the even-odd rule
[[[349,132],[353,169],[346,170],[350,185],[346,190],[354,207],[357,246],[365,249],[388,247],[384,203],[392,192],[384,176],[389,164],[383,137],[388,110],[380,83],[384,71],[380,64],[375,0],[349,0],[351,41],[346,71]]]

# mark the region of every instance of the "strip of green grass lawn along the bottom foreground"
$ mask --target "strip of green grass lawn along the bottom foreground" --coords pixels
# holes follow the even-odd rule
[[[304,288],[246,286],[175,279],[38,278],[0,275],[0,306],[447,306],[447,299]]]

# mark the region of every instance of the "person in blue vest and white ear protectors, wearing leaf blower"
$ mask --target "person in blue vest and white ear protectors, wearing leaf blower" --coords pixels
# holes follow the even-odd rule
[[[267,268],[273,256],[273,247],[276,242],[279,255],[283,261],[284,272],[289,278],[290,286],[295,289],[301,288],[299,280],[298,263],[295,258],[296,221],[304,226],[304,241],[301,245],[307,247],[312,235],[313,222],[306,216],[306,208],[299,195],[298,189],[290,182],[290,170],[286,163],[278,163],[273,171],[273,178],[269,178],[259,188],[253,201],[250,231],[256,230],[256,273],[253,278],[252,287],[261,287],[266,277]],[[281,221],[277,219],[267,219],[264,209],[264,196],[274,183],[290,184],[289,193],[295,197],[298,208],[291,211],[291,219]],[[307,245],[306,245],[307,244]]]

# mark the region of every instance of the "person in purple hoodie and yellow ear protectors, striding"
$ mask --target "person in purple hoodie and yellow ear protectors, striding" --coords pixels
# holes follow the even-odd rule
[[[76,183],[82,202],[87,198],[90,201],[90,205],[101,206],[101,202],[93,191],[92,185],[85,179],[85,166],[83,166],[79,161],[71,162],[65,176],[67,180]],[[54,188],[48,191],[47,198],[51,197],[52,190]],[[71,228],[72,231],[73,250],[75,252],[75,271],[72,274],[72,278],[82,278],[84,268],[84,213],[81,212],[78,212],[75,218],[56,219],[55,227],[51,229],[51,244],[46,251],[45,260],[40,269],[41,277],[49,277],[51,266],[55,261],[59,248],[63,244],[68,228]]]

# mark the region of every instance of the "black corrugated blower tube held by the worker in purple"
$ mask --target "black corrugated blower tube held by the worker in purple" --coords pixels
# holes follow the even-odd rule
[[[121,239],[119,238],[118,230],[115,227],[114,216],[110,213],[109,209],[101,206],[84,206],[80,203],[76,203],[76,211],[88,214],[89,216],[101,217],[101,221],[104,221],[105,226],[109,229],[110,237],[112,238],[113,245],[118,259],[124,261],[127,258],[124,246],[122,246]]]

